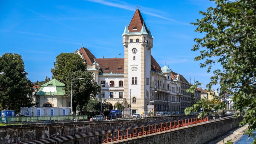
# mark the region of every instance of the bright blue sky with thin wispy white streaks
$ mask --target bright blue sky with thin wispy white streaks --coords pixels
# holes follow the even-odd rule
[[[138,5],[143,19],[154,36],[152,55],[160,66],[168,63],[177,73],[203,83],[211,73],[200,68],[191,51],[194,38],[202,37],[190,22],[202,18],[214,2],[182,1],[0,1],[0,55],[22,55],[31,81],[51,77],[55,57],[61,52],[74,52],[82,44],[95,57],[124,57],[122,33]],[[216,66],[218,68],[218,66]],[[214,88],[217,88],[214,87]]]

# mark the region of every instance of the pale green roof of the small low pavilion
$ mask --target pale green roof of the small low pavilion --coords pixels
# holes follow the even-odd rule
[[[46,82],[41,85],[36,95],[66,95],[64,91],[64,83],[59,82],[56,79]]]

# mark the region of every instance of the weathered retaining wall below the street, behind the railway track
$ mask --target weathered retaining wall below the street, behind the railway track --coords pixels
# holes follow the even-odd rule
[[[151,117],[145,119],[99,121],[99,122],[69,122],[69,123],[39,123],[23,125],[0,126],[0,144],[18,141],[46,139],[55,136],[74,135],[95,131],[118,129],[149,123],[166,122],[171,120],[193,118],[194,116]],[[94,136],[92,138],[96,138]],[[89,137],[91,138],[91,137]],[[90,141],[83,138],[79,141]]]

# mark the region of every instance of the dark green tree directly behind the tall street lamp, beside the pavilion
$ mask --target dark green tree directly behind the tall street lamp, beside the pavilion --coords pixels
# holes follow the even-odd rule
[[[79,105],[79,110],[82,110],[83,105],[85,105],[90,98],[95,98],[95,96],[100,92],[100,86],[94,81],[92,72],[88,71],[76,71],[68,72],[66,75],[66,85],[64,90],[67,95],[71,96],[71,79],[84,78],[73,81],[73,111],[76,111],[76,105]],[[82,114],[82,111],[80,111]]]

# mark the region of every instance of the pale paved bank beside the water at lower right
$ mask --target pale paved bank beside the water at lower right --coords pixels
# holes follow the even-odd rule
[[[237,141],[248,129],[248,125],[244,125],[242,127],[237,127],[234,129],[231,129],[227,133],[218,136],[214,140],[208,141],[206,144],[223,144],[228,142],[235,142]],[[223,142],[224,139],[224,142]]]

